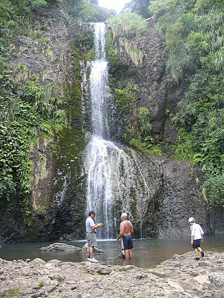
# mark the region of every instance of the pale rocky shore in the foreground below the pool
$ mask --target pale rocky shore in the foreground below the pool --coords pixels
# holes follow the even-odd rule
[[[0,259],[0,297],[224,297],[224,253],[175,255],[153,269]]]

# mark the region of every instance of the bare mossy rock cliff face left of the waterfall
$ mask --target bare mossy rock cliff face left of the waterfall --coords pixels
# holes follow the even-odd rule
[[[30,155],[31,220],[24,224],[19,198],[15,198],[10,212],[6,208],[0,211],[1,239],[5,241],[51,240],[67,232],[72,238],[78,238],[83,234],[85,179],[80,153],[85,139],[80,121],[79,62],[81,53],[87,51],[87,45],[85,41],[80,41],[80,31],[87,40],[91,26],[69,25],[68,16],[62,8],[43,10],[41,14],[38,18],[45,18],[48,22],[42,37],[13,38],[8,62],[12,68],[23,62],[29,69],[29,77],[36,77],[36,83],[52,82],[56,86],[54,96],[56,101],[66,102],[70,127],[51,138],[39,134]],[[76,49],[76,44],[80,51]],[[47,52],[47,49],[50,51]]]

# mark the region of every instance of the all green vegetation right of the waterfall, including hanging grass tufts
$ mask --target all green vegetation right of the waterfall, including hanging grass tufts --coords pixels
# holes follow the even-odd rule
[[[208,197],[210,206],[224,206],[223,1],[132,0],[126,7],[136,14],[120,14],[107,22],[117,49],[126,51],[135,66],[141,66],[143,53],[137,53],[131,38],[147,29],[146,22],[140,16],[135,18],[135,15],[153,16],[161,38],[166,42],[167,87],[186,86],[185,95],[179,98],[179,112],[174,115],[172,111],[165,111],[177,128],[177,144],[155,141],[150,136],[149,127],[148,132],[143,134],[140,118],[141,132],[134,129],[130,143],[139,149],[158,154],[168,152],[175,158],[199,164],[205,173],[203,196]],[[126,85],[127,80],[123,80],[122,76],[119,79],[119,88],[124,88],[122,84]]]

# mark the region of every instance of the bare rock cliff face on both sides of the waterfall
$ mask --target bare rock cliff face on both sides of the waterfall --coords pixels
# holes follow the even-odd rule
[[[50,140],[40,136],[30,156],[33,163],[30,197],[32,222],[29,226],[24,225],[19,213],[19,202],[15,200],[10,213],[7,210],[0,211],[0,240],[3,241],[74,240],[85,237],[86,177],[82,166],[85,136],[82,130],[79,61],[90,49],[91,37],[85,43],[82,36],[87,40],[92,25],[76,23],[70,26],[65,12],[59,8],[45,13],[52,21],[45,32],[53,52],[52,58],[43,55],[40,45],[32,39],[21,36],[11,41],[9,63],[23,62],[29,66],[31,73],[40,75],[40,82],[56,84],[56,98],[67,97],[71,127],[52,136]],[[149,108],[153,136],[166,142],[175,142],[177,134],[164,111],[167,108],[175,112],[183,90],[166,89],[165,46],[155,31],[153,21],[149,21],[148,26],[147,36],[136,40],[137,45],[144,49],[145,57],[144,65],[138,69],[136,77],[140,86],[139,95],[129,116],[136,128],[137,110],[142,106]],[[120,63],[128,63],[128,58],[121,55],[120,59]],[[139,155],[142,156],[140,166],[148,179],[150,197],[145,196],[141,202],[137,202],[141,204],[137,213],[133,210],[136,202],[126,206],[131,210],[135,236],[189,234],[190,216],[201,223],[206,233],[223,232],[223,226],[217,224],[223,212],[216,213],[216,221],[213,225],[210,223],[208,202],[200,195],[203,178],[197,168],[166,157],[158,158],[146,153]]]

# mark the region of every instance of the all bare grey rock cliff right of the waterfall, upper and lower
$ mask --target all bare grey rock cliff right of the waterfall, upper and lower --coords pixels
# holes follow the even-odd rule
[[[150,134],[157,140],[175,143],[177,132],[170,118],[166,116],[166,110],[172,114],[177,112],[177,103],[186,86],[176,88],[166,86],[165,45],[159,38],[153,20],[149,19],[147,22],[147,33],[129,40],[133,47],[136,45],[143,51],[144,60],[142,66],[137,67],[135,75],[131,77],[140,90],[133,101],[133,109],[126,112],[125,116],[137,130],[139,129],[138,110],[141,107],[148,108],[152,124]],[[111,74],[116,78],[113,86],[119,88],[122,84],[122,70],[128,73],[126,69],[130,70],[133,62],[124,48],[122,49],[119,38],[116,42],[120,60],[119,65],[111,69]],[[122,132],[118,124],[117,131]],[[126,127],[123,127],[124,131],[127,132]],[[197,166],[190,166],[180,160],[171,160],[167,156],[161,160],[148,155],[142,160],[140,167],[144,177],[150,183],[151,195],[143,198],[141,212],[134,221],[138,232],[141,230],[144,236],[181,236],[188,233],[187,222],[192,214],[200,223],[203,223],[206,233],[223,233],[221,232],[223,225],[221,224],[221,228],[218,227],[220,226],[218,223],[223,222],[223,211],[216,211],[217,218],[212,215],[214,212],[209,212],[208,201],[201,195],[203,175]],[[144,171],[146,168],[152,171],[149,173],[148,169]]]

